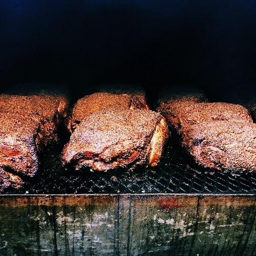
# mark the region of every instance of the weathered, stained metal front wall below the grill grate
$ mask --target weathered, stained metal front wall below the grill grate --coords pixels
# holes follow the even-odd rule
[[[0,196],[0,255],[255,255],[255,199]]]

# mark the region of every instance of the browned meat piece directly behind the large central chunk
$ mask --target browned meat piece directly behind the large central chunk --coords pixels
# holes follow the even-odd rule
[[[68,120],[68,129],[72,133],[77,124],[79,124],[89,114],[98,110],[129,110],[129,109],[146,109],[145,94],[138,93],[94,93],[79,99],[72,110]]]

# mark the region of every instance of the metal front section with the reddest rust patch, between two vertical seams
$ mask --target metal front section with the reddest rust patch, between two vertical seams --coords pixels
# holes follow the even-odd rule
[[[167,252],[173,243],[175,251],[184,254],[191,240],[185,234],[189,232],[189,223],[196,218],[196,207],[195,196],[131,197],[127,254]]]

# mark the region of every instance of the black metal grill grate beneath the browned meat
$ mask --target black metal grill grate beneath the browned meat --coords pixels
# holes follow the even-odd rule
[[[52,151],[51,151],[52,152]],[[51,153],[52,154],[52,153]],[[256,173],[223,173],[199,169],[179,147],[167,147],[161,165],[134,171],[90,172],[64,170],[59,152],[45,159],[44,169],[18,193],[213,193],[255,194]],[[13,193],[13,191],[10,191]]]

